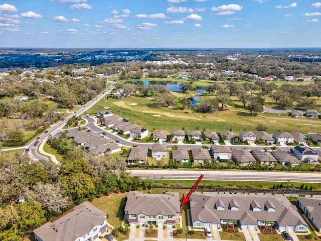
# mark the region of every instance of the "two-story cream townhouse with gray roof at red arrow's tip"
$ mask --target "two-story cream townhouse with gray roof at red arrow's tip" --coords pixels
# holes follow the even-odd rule
[[[134,225],[172,226],[180,223],[180,194],[148,194],[130,191],[124,208],[125,219]]]

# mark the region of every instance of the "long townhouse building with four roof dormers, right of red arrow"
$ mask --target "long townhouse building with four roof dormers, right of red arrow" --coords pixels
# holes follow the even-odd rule
[[[215,227],[236,221],[237,227],[254,229],[274,222],[274,228],[305,232],[307,223],[285,196],[192,193],[191,221],[194,228]]]

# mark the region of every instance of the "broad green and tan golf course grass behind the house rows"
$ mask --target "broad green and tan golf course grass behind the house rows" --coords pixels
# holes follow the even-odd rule
[[[204,98],[210,98],[206,96]],[[131,105],[132,102],[137,105]],[[209,130],[229,131],[235,133],[243,130],[255,131],[258,124],[267,126],[268,133],[285,132],[321,132],[321,121],[314,118],[292,118],[288,114],[259,113],[250,115],[243,108],[228,107],[228,110],[210,113],[192,113],[190,109],[179,110],[173,108],[151,108],[151,98],[131,96],[123,99],[102,99],[88,112],[95,113],[108,106],[115,114],[118,114],[133,124],[140,125],[149,130]],[[242,105],[243,106],[243,105]],[[154,116],[155,114],[161,116]],[[313,128],[311,128],[313,126]]]

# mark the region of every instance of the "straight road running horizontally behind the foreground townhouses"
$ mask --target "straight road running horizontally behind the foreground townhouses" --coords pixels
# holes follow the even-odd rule
[[[165,180],[197,180],[203,174],[202,180],[226,181],[265,181],[265,182],[291,182],[321,183],[321,174],[317,173],[291,173],[291,172],[248,172],[248,171],[190,171],[190,170],[129,170],[130,176],[140,179]]]

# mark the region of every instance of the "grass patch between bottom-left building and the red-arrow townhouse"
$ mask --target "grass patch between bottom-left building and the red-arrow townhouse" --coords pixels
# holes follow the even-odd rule
[[[123,210],[126,204],[126,196],[128,196],[128,193],[111,193],[110,196],[96,198],[91,204],[108,213],[108,223],[114,227],[119,227],[124,218]]]

